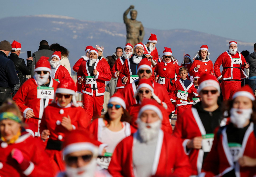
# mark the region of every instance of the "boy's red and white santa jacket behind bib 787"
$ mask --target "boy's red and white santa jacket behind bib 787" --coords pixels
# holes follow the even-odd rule
[[[178,90],[188,92],[188,99],[187,100],[179,99],[177,97]],[[198,93],[193,82],[191,82],[190,85],[186,88],[181,80],[177,80],[171,89],[170,95],[171,95],[170,98],[172,100],[176,99],[176,106],[182,106],[182,105],[194,104],[192,97],[198,96]]]

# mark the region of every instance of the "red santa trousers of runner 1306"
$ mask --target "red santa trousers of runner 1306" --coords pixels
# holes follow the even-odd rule
[[[83,108],[87,112],[88,118],[97,118],[101,116],[101,111],[104,104],[104,95],[96,96],[96,91],[93,90],[93,95],[83,93]]]

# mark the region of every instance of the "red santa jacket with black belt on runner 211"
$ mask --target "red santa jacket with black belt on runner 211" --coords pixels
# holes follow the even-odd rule
[[[239,64],[238,62],[239,60],[235,61],[235,59],[233,58],[240,58],[242,61]],[[246,60],[240,52],[237,52],[235,55],[232,55],[227,50],[226,52],[222,53],[215,61],[215,64],[214,64],[215,75],[218,78],[218,80],[221,77],[223,80],[229,80],[229,79],[241,80],[241,79],[247,78],[248,76],[243,71],[244,63],[246,63]],[[222,73],[220,72],[221,65],[223,67]]]

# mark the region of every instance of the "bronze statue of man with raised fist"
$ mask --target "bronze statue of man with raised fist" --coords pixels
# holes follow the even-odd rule
[[[127,9],[124,12],[124,23],[126,24],[126,31],[127,31],[126,43],[129,42],[134,47],[135,44],[143,41],[145,31],[142,23],[136,20],[137,14],[138,14],[137,10],[131,10],[131,9],[134,9],[133,5],[131,5],[129,9]],[[127,15],[130,10],[131,10],[131,13],[130,13],[131,19],[128,19]]]

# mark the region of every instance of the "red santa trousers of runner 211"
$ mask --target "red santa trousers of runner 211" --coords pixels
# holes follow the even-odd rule
[[[233,93],[241,88],[241,81],[222,81],[221,90],[224,100],[231,99]]]

